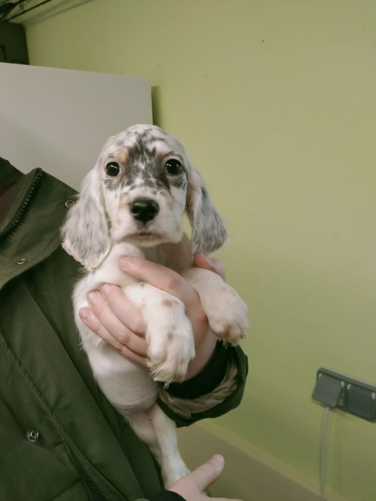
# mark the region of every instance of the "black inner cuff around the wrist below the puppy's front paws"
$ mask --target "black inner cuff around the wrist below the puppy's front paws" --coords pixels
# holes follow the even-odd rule
[[[195,377],[182,383],[170,383],[167,391],[178,398],[199,398],[213,391],[225,377],[229,352],[222,342],[218,342],[213,355],[204,369]]]

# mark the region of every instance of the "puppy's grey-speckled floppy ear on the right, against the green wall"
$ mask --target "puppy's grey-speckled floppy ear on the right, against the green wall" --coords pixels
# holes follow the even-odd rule
[[[200,174],[194,168],[188,180],[186,211],[192,225],[194,254],[210,254],[227,240],[227,231]]]

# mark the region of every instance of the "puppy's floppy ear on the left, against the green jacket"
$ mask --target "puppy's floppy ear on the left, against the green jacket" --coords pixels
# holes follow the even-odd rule
[[[97,268],[110,249],[100,174],[91,170],[61,228],[63,248],[87,270]]]

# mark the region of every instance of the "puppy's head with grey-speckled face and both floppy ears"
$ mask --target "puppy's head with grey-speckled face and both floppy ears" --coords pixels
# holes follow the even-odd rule
[[[184,210],[195,253],[223,245],[226,230],[181,144],[159,127],[135,125],[106,142],[85,177],[62,228],[63,247],[93,270],[112,242],[180,241]]]

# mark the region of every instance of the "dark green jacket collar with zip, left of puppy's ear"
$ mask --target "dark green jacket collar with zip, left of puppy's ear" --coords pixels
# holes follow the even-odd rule
[[[67,200],[74,198],[76,191],[42,169],[22,174],[3,159],[0,174],[2,288],[59,247]]]

